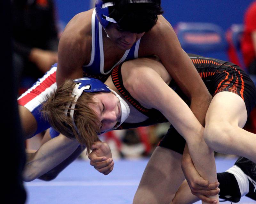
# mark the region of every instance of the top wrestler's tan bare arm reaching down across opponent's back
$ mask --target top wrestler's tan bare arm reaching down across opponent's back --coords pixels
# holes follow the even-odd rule
[[[190,99],[192,112],[204,125],[206,111],[212,99],[211,94],[191,59],[181,48],[172,26],[163,16],[159,16],[156,26],[141,38],[141,46],[139,54],[155,54],[160,58],[166,70]]]

